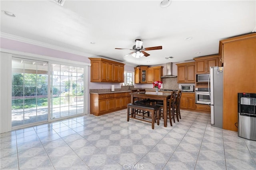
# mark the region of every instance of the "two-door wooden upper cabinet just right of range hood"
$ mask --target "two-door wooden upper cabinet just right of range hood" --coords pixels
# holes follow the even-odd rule
[[[178,83],[195,83],[195,62],[176,64]]]

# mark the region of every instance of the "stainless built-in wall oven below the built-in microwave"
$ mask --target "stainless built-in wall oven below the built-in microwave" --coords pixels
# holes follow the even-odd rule
[[[208,88],[196,88],[196,103],[210,105],[211,97]]]

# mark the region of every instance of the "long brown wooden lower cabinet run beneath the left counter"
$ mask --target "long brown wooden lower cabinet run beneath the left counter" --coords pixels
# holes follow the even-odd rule
[[[130,101],[130,92],[108,94],[90,93],[90,114],[100,116],[122,110],[127,107]]]

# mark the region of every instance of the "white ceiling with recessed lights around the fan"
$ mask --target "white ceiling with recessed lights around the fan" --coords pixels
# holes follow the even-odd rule
[[[60,6],[51,0],[1,0],[1,10],[16,15],[1,12],[1,36],[11,34],[134,65],[157,65],[216,54],[220,40],[255,32],[255,0],[173,0],[167,8],[160,2],[66,0]],[[150,56],[139,59],[124,57],[129,50],[114,49],[132,48],[137,38],[144,47],[162,49],[146,51]],[[165,59],[170,56],[174,58]]]

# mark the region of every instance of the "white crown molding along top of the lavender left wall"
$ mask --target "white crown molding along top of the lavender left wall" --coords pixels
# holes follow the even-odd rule
[[[29,43],[29,44],[37,45],[37,46],[40,46],[40,47],[46,47],[46,48],[55,49],[55,50],[58,50],[58,51],[72,53],[72,54],[76,54],[76,55],[82,55],[82,56],[85,56],[85,57],[100,57],[98,55],[93,55],[93,54],[88,54],[88,53],[84,53],[84,52],[80,52],[80,51],[75,51],[75,50],[72,50],[72,49],[68,49],[68,48],[64,48],[64,47],[60,47],[60,46],[52,45],[52,44],[48,44],[48,43],[38,42],[38,41],[35,41],[35,40],[31,40],[31,39],[20,37],[20,36],[14,36],[12,34],[7,34],[7,33],[4,33],[4,32],[0,32],[0,37],[1,38],[6,38],[6,39],[9,39],[9,40],[18,41],[18,42]]]

